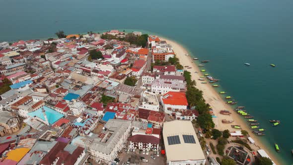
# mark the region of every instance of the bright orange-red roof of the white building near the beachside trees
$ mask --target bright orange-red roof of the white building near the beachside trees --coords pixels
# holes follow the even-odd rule
[[[188,105],[184,92],[169,91],[163,95],[162,101],[170,105]]]

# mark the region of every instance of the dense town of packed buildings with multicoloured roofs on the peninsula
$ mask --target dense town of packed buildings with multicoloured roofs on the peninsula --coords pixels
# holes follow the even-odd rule
[[[219,165],[170,44],[118,30],[56,35],[0,43],[0,165]],[[237,164],[251,164],[247,153]]]

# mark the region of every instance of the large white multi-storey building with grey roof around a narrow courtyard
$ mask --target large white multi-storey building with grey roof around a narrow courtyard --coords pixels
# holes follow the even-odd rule
[[[101,163],[111,165],[128,139],[131,125],[129,120],[109,119],[104,125],[105,129],[95,139],[84,142],[90,156]]]

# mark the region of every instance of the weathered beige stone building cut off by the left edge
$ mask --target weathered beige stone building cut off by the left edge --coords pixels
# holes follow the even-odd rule
[[[13,116],[11,112],[0,111],[0,136],[5,134],[13,134],[19,131],[20,125],[16,116]]]

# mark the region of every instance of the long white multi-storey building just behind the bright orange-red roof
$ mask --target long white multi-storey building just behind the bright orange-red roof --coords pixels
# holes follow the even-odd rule
[[[165,81],[162,79],[155,79],[151,84],[151,92],[156,94],[165,94],[169,91],[184,92],[185,84],[178,80]]]

